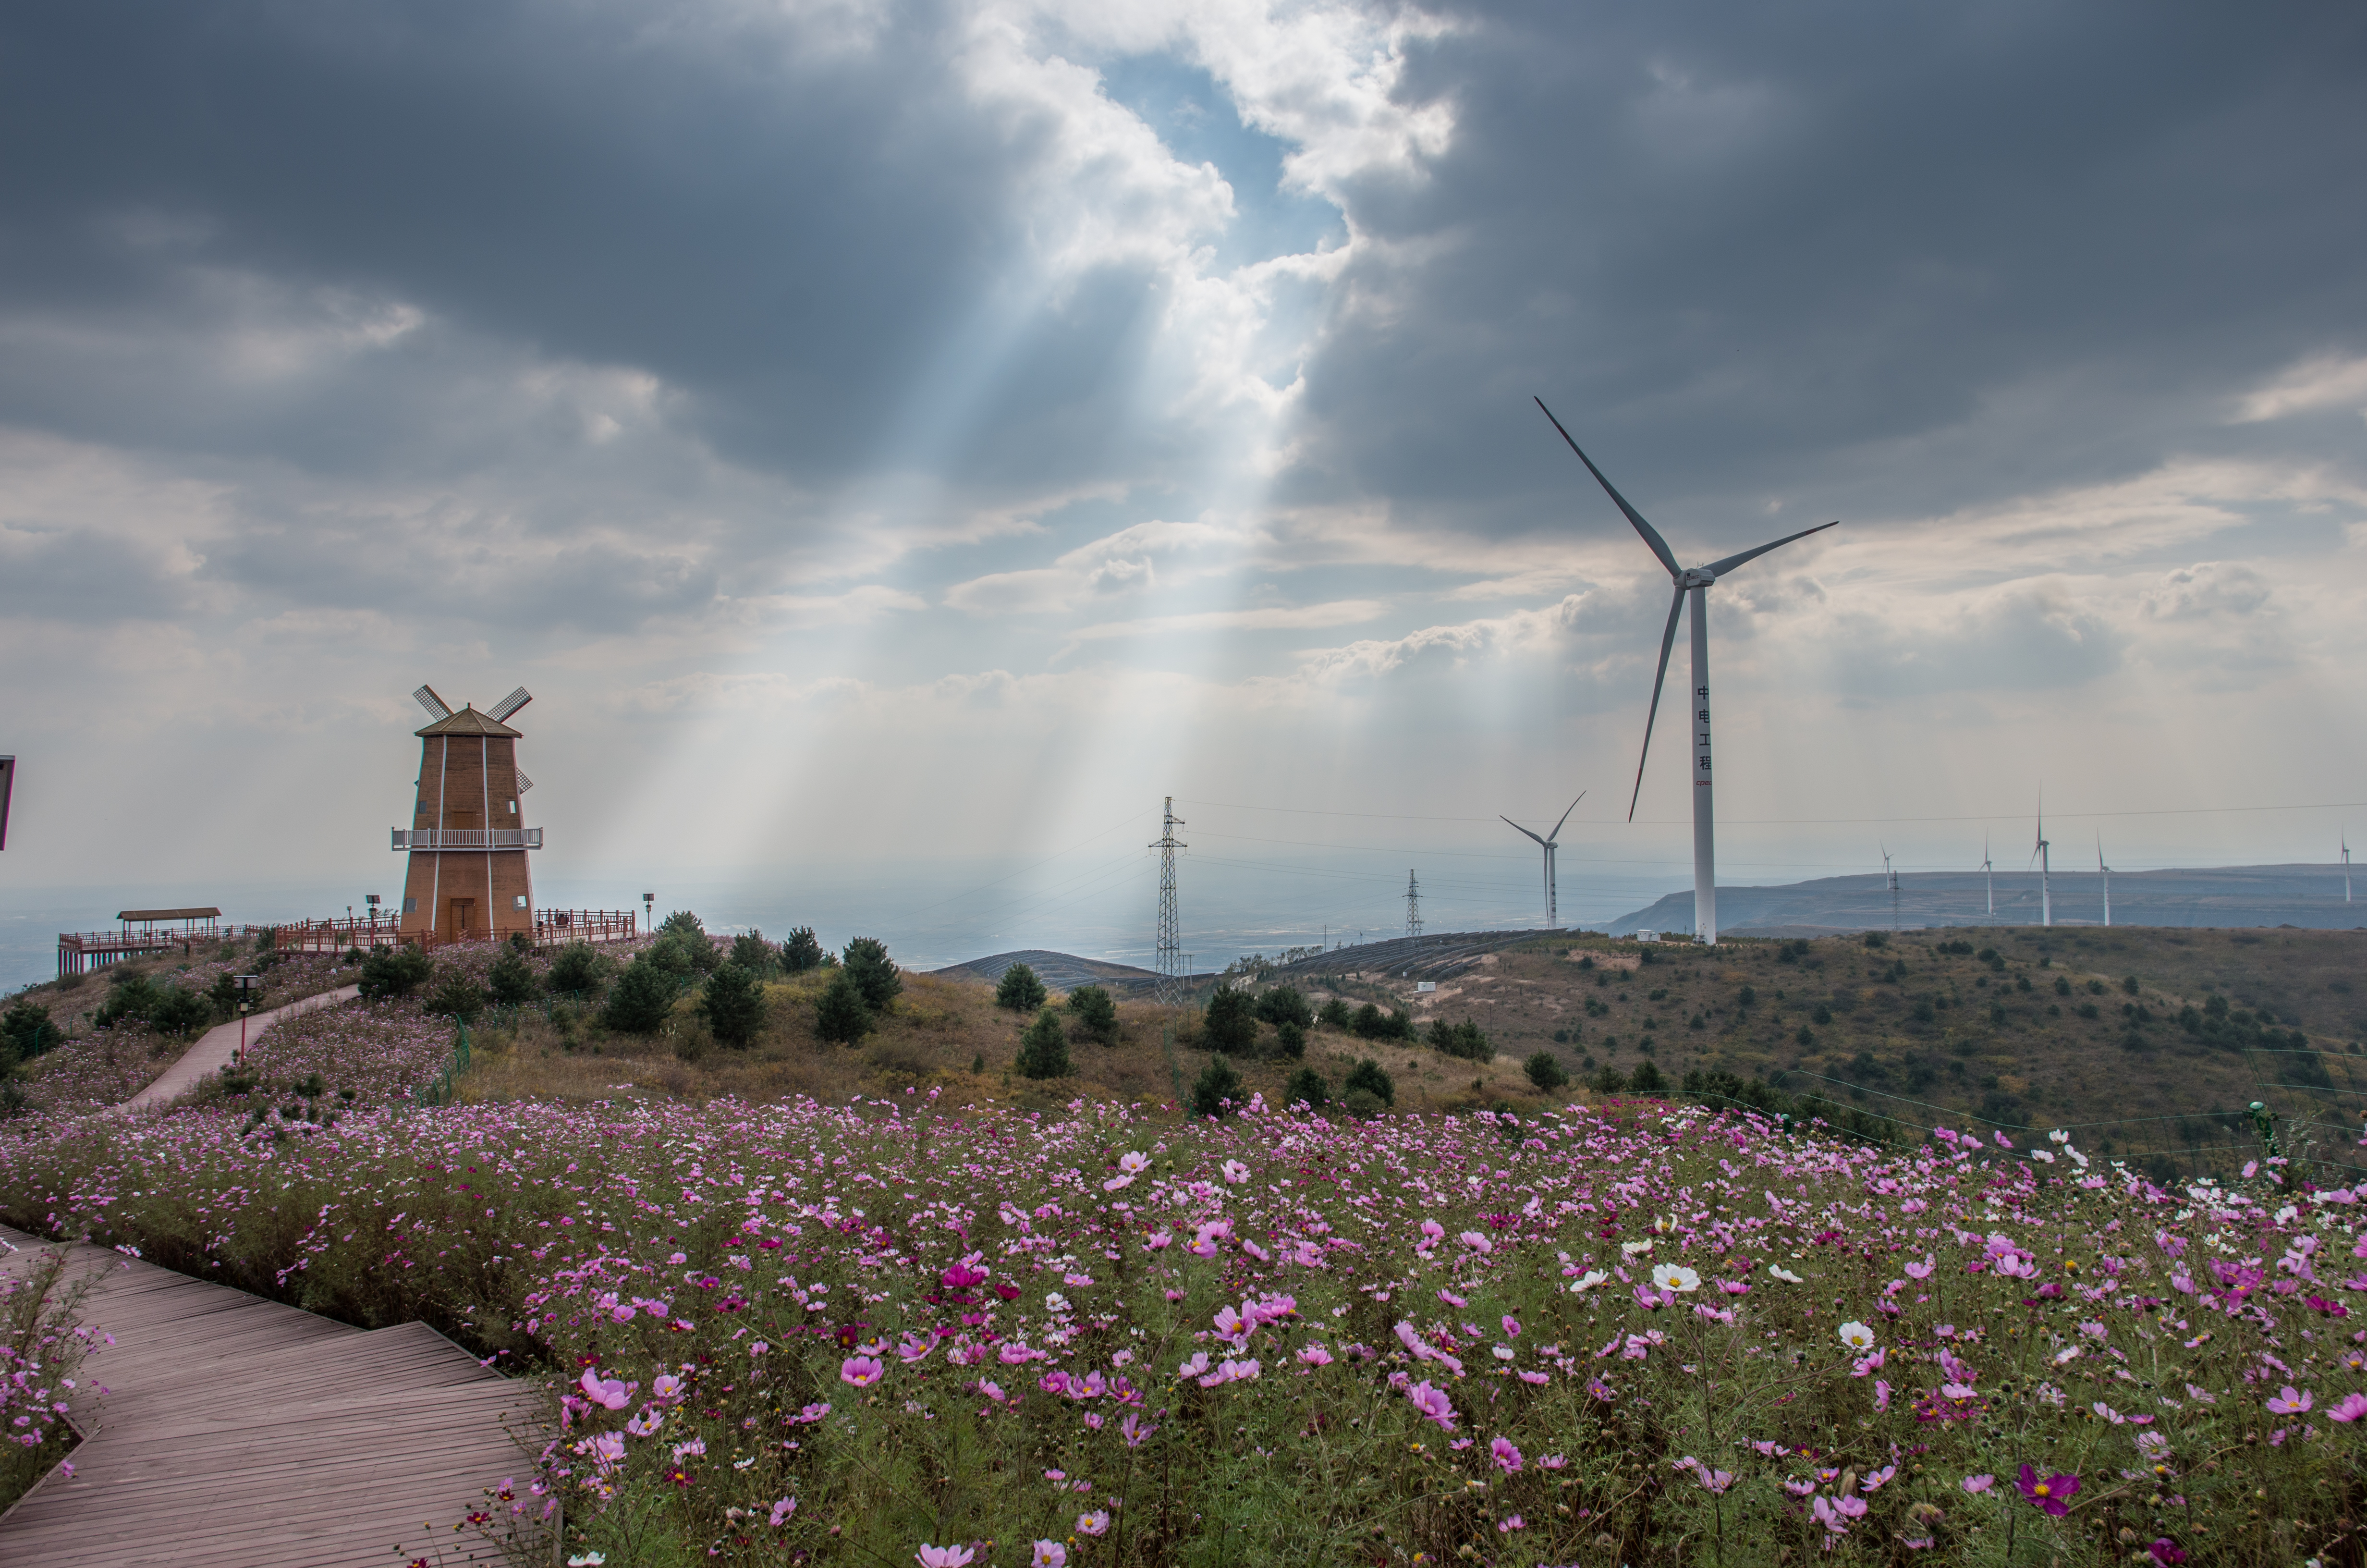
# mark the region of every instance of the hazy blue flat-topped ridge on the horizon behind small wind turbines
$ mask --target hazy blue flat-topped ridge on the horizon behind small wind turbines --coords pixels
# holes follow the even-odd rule
[[[2055,872],[2057,926],[2104,924],[2104,879],[2095,872]],[[1979,872],[1901,872],[1898,926],[2036,926],[2038,874],[1998,872],[1998,912]],[[2341,867],[2244,865],[2199,872],[2114,872],[2114,926],[2298,926],[2303,931],[2367,928],[2367,872],[2343,902]],[[1830,936],[1886,931],[1891,891],[1879,874],[1825,876],[1780,888],[1718,888],[1718,933]],[[1692,891],[1621,914],[1612,936],[1692,931]]]

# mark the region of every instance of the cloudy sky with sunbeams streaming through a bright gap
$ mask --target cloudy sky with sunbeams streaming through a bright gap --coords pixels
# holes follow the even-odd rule
[[[1146,959],[2367,834],[2367,12],[0,17],[0,981],[395,893]],[[1683,668],[1683,640],[1678,668]],[[1354,938],[1349,938],[1354,940]]]

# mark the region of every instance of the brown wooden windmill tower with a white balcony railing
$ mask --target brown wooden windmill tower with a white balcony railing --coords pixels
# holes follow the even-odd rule
[[[419,730],[419,803],[395,829],[412,865],[402,879],[402,933],[454,943],[535,933],[535,879],[525,850],[542,829],[525,827],[518,798],[535,786],[518,772],[518,732],[507,722],[535,701],[518,687],[488,713],[452,713],[433,687],[412,692],[433,720]]]

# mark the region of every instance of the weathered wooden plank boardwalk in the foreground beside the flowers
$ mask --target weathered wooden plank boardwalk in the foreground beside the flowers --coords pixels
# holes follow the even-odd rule
[[[0,1274],[43,1244],[0,1227]],[[549,1409],[426,1324],[362,1331],[97,1246],[73,1476],[0,1516],[0,1563],[402,1568],[499,1561],[483,1490],[530,1476]],[[104,1395],[97,1390],[107,1388]],[[552,1542],[556,1544],[556,1542]]]

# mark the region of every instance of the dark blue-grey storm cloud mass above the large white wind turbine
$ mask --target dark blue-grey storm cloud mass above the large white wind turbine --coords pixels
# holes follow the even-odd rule
[[[1352,272],[1387,310],[1311,367],[1297,495],[1614,528],[1543,393],[1673,535],[1773,533],[1771,497],[1946,514],[2275,455],[2298,431],[2227,429],[2230,398],[2367,348],[2355,5],[1470,21],[1404,85],[1453,97],[1449,154],[1356,192],[1378,239],[1446,249]]]

